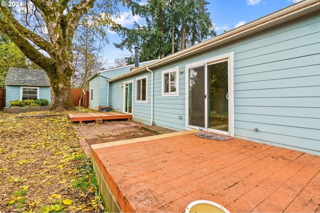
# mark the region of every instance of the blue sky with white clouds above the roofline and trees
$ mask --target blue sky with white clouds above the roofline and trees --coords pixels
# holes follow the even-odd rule
[[[231,30],[237,26],[249,23],[260,17],[268,15],[279,9],[285,8],[300,0],[207,0],[208,12],[211,21],[214,23],[216,34],[223,33],[224,30]],[[120,17],[116,18],[117,23],[129,27],[133,21],[142,23],[139,16],[132,17],[127,8],[120,9]],[[105,67],[113,66],[114,59],[131,56],[128,50],[117,49],[112,42],[120,42],[117,34],[108,31],[110,43],[105,46],[103,58],[106,60]]]

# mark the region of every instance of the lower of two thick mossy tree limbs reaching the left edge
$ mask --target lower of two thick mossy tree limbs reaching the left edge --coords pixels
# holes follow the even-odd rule
[[[22,36],[7,20],[0,16],[0,30],[12,39],[22,53],[45,71],[52,71],[52,60],[41,54],[24,36]]]

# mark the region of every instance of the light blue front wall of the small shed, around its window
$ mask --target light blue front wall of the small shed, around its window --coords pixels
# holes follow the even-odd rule
[[[50,103],[50,100],[51,100],[50,87],[48,86],[23,86],[23,87],[39,88],[39,99],[40,98],[47,99]],[[21,97],[20,88],[21,86],[16,86],[16,85],[5,86],[5,107],[10,106],[9,101],[20,100],[20,97]]]

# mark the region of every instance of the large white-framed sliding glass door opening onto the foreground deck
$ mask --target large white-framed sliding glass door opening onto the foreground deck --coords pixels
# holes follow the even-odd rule
[[[230,135],[231,128],[233,134],[233,113],[230,114],[233,112],[233,100],[230,105],[230,93],[233,94],[231,92],[233,85],[230,85],[230,82],[233,83],[233,71],[231,81],[229,57],[193,63],[186,68],[187,127],[202,128],[225,135]]]

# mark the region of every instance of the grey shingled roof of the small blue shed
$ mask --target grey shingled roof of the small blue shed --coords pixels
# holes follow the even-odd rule
[[[49,78],[42,69],[22,69],[10,67],[5,85],[50,86]]]

